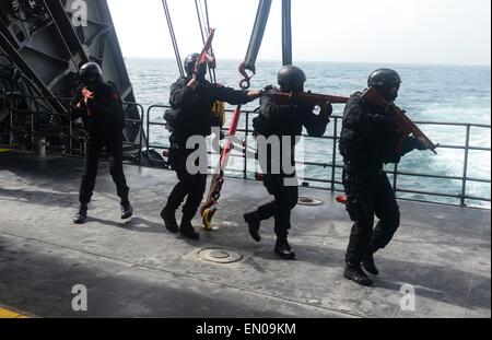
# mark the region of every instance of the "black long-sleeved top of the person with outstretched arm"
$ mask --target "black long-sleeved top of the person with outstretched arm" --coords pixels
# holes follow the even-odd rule
[[[242,105],[250,99],[244,91],[236,91],[200,81],[197,89],[187,86],[190,78],[180,78],[171,86],[169,104],[178,109],[174,139],[179,145],[185,145],[192,136],[207,137],[212,133],[212,105],[214,102],[226,102]]]

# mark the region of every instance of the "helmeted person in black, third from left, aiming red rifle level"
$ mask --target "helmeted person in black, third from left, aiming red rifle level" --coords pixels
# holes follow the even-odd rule
[[[294,66],[283,67],[278,74],[280,91],[285,93],[304,92],[306,74]],[[249,234],[256,242],[260,242],[260,224],[262,221],[274,218],[274,232],[277,234],[276,254],[288,260],[295,259],[296,254],[288,242],[291,228],[291,212],[298,200],[298,184],[295,173],[294,149],[302,134],[303,127],[312,137],[321,137],[330,121],[332,113],[330,104],[321,107],[319,115],[314,114],[314,105],[291,101],[286,105],[276,103],[273,94],[268,91],[261,96],[259,116],[254,119],[255,136],[259,150],[258,159],[263,173],[263,185],[268,192],[274,197],[273,201],[259,207],[256,211],[244,215],[249,226]],[[271,87],[270,87],[271,89]],[[268,139],[278,140],[280,148],[263,145]],[[289,142],[286,142],[289,141]],[[274,144],[274,143],[273,143]],[[290,164],[290,168],[284,168]]]

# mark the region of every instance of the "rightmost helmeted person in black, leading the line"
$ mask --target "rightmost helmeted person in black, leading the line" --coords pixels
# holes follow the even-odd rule
[[[396,152],[400,133],[394,119],[393,102],[398,97],[400,84],[396,71],[376,70],[371,73],[367,85],[391,104],[386,108],[376,107],[358,92],[350,97],[343,113],[339,144],[344,164],[342,181],[348,198],[347,211],[354,222],[344,277],[366,286],[373,284],[366,272],[379,273],[374,254],[390,243],[400,225],[399,207],[384,164],[399,163],[405,154],[425,149],[417,138],[409,137],[402,151]],[[379,222],[374,227],[375,215]]]

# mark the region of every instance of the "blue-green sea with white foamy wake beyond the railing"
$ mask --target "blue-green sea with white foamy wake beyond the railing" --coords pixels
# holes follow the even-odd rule
[[[130,79],[133,85],[137,102],[141,103],[145,110],[154,104],[168,104],[169,87],[179,77],[176,61],[173,59],[128,59],[126,60]],[[238,87],[242,80],[237,71],[238,61],[219,61],[216,79],[221,84]],[[421,66],[421,65],[364,65],[364,63],[333,63],[333,62],[298,62],[307,74],[306,90],[345,95],[356,91],[363,91],[371,71],[389,67],[397,70],[402,78],[397,104],[405,108],[409,117],[414,121],[423,122],[453,122],[453,124],[476,124],[487,127],[470,128],[470,145],[490,149],[491,148],[491,69],[490,67],[467,67],[467,66]],[[251,81],[251,89],[262,89],[266,85],[274,84],[280,62],[260,61],[257,65],[257,74]],[[254,110],[258,103],[245,106],[245,109]],[[233,108],[233,107],[229,107]],[[163,121],[162,108],[154,108],[150,112],[151,121]],[[343,105],[335,106],[335,113],[341,115]],[[231,116],[229,115],[230,119]],[[249,117],[250,127],[254,115]],[[226,127],[229,124],[226,122]],[[329,126],[326,136],[333,134],[333,121]],[[246,127],[243,116],[239,128]],[[466,144],[467,128],[465,126],[446,125],[421,125],[421,129],[435,142],[442,145],[464,146]],[[338,121],[338,132],[340,120]],[[238,133],[244,138],[244,133]],[[154,145],[167,146],[168,132],[163,127],[152,126],[150,130],[150,141]],[[329,139],[305,139],[302,143],[297,159],[302,163],[321,163],[319,165],[301,165],[304,171],[303,176],[312,187],[331,188],[333,174],[330,165],[333,159],[333,142]],[[337,153],[338,165],[342,164],[340,155]],[[216,162],[212,157],[211,162]],[[491,152],[470,151],[468,160],[467,177],[475,179],[490,180],[491,178]],[[248,161],[248,177],[254,178],[256,164]],[[244,160],[234,157],[231,162],[230,175],[243,176],[241,172],[245,168]],[[394,171],[394,166],[387,167],[388,172]],[[402,173],[417,173],[433,176],[449,176],[461,178],[465,174],[465,151],[459,149],[438,149],[438,154],[432,152],[413,152],[407,155],[399,164]],[[394,181],[390,175],[391,181]],[[335,173],[335,188],[341,190],[341,169]],[[415,176],[398,176],[396,183],[402,191],[426,191],[434,194],[445,194],[456,196],[446,198],[429,196],[414,192],[399,192],[401,198],[427,200],[443,203],[459,204],[457,198],[462,191],[462,180],[440,179]],[[481,197],[490,199],[491,186],[483,181],[468,181],[466,195],[470,197]],[[490,208],[489,202],[467,200],[469,206]]]

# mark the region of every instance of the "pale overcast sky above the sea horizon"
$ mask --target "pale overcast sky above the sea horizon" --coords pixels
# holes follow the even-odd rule
[[[195,0],[167,0],[181,56],[199,51]],[[108,0],[126,57],[174,57],[161,0]],[[218,58],[242,60],[258,0],[209,0]],[[259,59],[280,60],[273,0]],[[294,60],[491,63],[490,0],[292,0]]]

